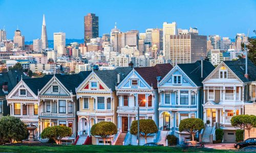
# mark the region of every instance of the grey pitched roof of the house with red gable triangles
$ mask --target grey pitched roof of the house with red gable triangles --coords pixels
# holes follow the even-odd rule
[[[117,74],[120,73],[120,82],[132,70],[131,67],[118,67],[114,70],[100,70],[94,71],[100,80],[108,86],[112,91],[116,90]]]

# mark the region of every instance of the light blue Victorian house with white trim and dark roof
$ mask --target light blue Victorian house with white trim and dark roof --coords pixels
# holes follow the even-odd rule
[[[157,142],[165,144],[162,138],[167,134],[177,136],[179,143],[190,140],[189,134],[179,132],[179,124],[182,119],[202,118],[202,81],[214,68],[204,60],[177,64],[158,83],[161,134]]]

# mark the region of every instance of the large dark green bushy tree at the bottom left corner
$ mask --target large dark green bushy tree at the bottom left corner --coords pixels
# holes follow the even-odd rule
[[[22,141],[28,137],[26,124],[14,116],[0,118],[0,144]]]

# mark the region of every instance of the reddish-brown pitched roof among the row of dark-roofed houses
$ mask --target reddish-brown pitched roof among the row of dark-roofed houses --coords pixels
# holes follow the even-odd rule
[[[153,85],[153,88],[157,88],[157,77],[164,77],[173,66],[167,64],[156,64],[153,67],[136,67],[134,68],[140,76],[147,82],[148,85]]]

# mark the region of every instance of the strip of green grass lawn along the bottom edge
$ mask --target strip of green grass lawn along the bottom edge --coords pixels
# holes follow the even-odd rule
[[[108,145],[61,145],[61,146],[0,146],[0,152],[233,152],[207,148],[181,148],[162,146],[108,146]]]

